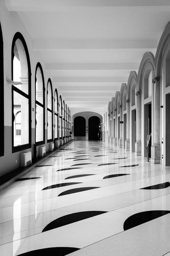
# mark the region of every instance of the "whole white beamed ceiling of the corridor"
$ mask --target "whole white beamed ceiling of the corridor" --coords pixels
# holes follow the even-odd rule
[[[6,0],[18,12],[70,108],[104,108],[154,55],[170,0]]]

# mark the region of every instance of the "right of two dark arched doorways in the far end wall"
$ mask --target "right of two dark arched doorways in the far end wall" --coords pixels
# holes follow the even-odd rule
[[[99,140],[100,131],[100,118],[97,116],[91,116],[88,119],[88,139],[89,140]]]

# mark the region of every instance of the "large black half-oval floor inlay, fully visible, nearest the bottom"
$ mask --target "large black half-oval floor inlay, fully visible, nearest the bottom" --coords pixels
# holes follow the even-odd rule
[[[65,216],[62,216],[60,218],[55,219],[54,221],[50,222],[42,232],[54,229],[54,228],[59,228],[74,222],[82,221],[83,219],[87,219],[90,217],[94,217],[100,214],[103,214],[106,212],[103,211],[86,211],[86,212],[76,212],[76,213],[71,213]]]

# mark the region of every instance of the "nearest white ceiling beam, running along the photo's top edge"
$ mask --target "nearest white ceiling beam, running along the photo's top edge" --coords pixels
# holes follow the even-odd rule
[[[8,11],[17,12],[61,12],[61,11],[71,11],[74,9],[87,9],[87,8],[120,8],[120,7],[136,7],[141,6],[145,8],[157,7],[160,10],[160,6],[167,10],[170,6],[169,0],[6,0],[6,7]],[[158,10],[157,9],[157,10]]]

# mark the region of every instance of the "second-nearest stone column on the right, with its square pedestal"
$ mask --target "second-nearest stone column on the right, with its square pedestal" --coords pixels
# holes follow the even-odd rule
[[[141,91],[137,91],[136,96],[137,96],[137,109],[136,109],[135,155],[141,156]]]

